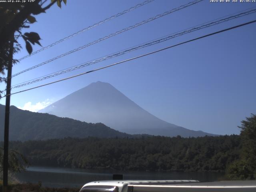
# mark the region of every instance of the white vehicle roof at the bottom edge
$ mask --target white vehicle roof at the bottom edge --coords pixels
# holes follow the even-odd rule
[[[110,188],[110,186],[113,188]],[[87,187],[88,190],[86,190]],[[84,192],[256,192],[256,180],[218,182],[198,182],[197,180],[110,180],[90,182],[85,184],[83,188]],[[92,190],[93,188],[105,188],[105,190]]]

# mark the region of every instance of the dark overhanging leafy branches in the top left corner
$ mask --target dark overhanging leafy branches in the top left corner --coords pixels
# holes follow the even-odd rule
[[[29,3],[0,3],[0,74],[4,75],[4,70],[8,69],[10,41],[14,40],[15,42],[14,54],[21,48],[18,42],[20,39],[26,42],[26,50],[31,54],[33,51],[31,44],[41,45],[39,42],[41,38],[37,32],[22,33],[22,28],[29,28],[30,24],[36,22],[34,16],[45,13],[53,4],[57,3],[61,8],[62,2],[66,4],[66,0],[34,0]],[[13,60],[13,64],[17,62],[18,60]],[[0,77],[0,81],[2,80],[3,78]]]

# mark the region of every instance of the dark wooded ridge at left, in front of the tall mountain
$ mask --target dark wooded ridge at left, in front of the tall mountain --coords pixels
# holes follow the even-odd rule
[[[4,105],[0,105],[0,140],[4,139]],[[60,118],[50,114],[42,114],[20,110],[10,106],[10,140],[46,140],[51,138],[88,136],[99,138],[132,137],[116,131],[102,123],[92,124],[70,118]]]

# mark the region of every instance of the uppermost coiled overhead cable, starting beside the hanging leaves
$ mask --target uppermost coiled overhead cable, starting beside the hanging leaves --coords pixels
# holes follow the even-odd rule
[[[118,13],[118,14],[115,14],[115,15],[113,15],[113,16],[111,16],[111,17],[108,17],[108,18],[106,18],[106,19],[104,19],[104,20],[101,20],[101,21],[98,22],[98,23],[95,23],[95,24],[93,24],[93,25],[91,25],[91,26],[88,26],[88,27],[86,27],[86,28],[84,28],[84,29],[82,29],[82,30],[76,32],[76,33],[71,34],[70,36],[64,37],[64,38],[62,38],[62,39],[60,39],[60,40],[58,40],[58,41],[56,41],[56,42],[54,42],[54,43],[52,43],[52,44],[50,44],[50,45],[48,45],[48,46],[45,46],[45,47],[43,47],[43,48],[41,48],[41,49],[39,49],[39,50],[37,50],[37,51],[31,53],[30,55],[26,55],[26,56],[20,58],[19,61],[21,61],[21,60],[23,60],[23,59],[25,59],[25,58],[28,58],[28,57],[30,57],[30,56],[32,56],[32,55],[34,55],[34,54],[37,54],[37,53],[39,53],[39,52],[41,52],[41,51],[44,51],[44,50],[46,50],[46,49],[48,49],[48,48],[50,48],[50,47],[52,47],[52,46],[54,46],[54,45],[56,45],[56,44],[59,44],[59,43],[62,42],[62,41],[68,40],[68,39],[70,39],[70,38],[72,38],[72,37],[74,37],[74,36],[76,36],[76,35],[78,35],[78,34],[80,34],[80,33],[82,33],[82,32],[85,32],[85,31],[87,31],[87,30],[89,30],[89,29],[91,29],[91,28],[94,28],[94,27],[96,27],[96,26],[98,26],[98,25],[100,25],[100,24],[103,24],[103,23],[105,23],[105,22],[107,22],[107,21],[109,21],[109,20],[112,20],[112,19],[114,19],[114,18],[117,18],[117,17],[119,17],[119,16],[121,16],[121,15],[123,15],[123,14],[126,14],[126,13],[128,13],[128,12],[130,12],[130,11],[136,9],[136,8],[139,8],[139,7],[141,7],[141,6],[144,6],[144,5],[146,5],[146,4],[148,4],[148,3],[151,3],[151,2],[153,2],[153,1],[154,1],[154,0],[146,0],[146,1],[142,2],[142,3],[140,3],[140,4],[137,4],[137,5],[135,5],[135,6],[131,7],[131,8],[129,8],[129,9],[124,10],[124,11]]]

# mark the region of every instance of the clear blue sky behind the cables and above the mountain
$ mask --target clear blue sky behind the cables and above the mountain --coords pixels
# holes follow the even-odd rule
[[[54,5],[46,14],[36,16],[38,22],[24,32],[38,32],[42,38],[42,46],[47,46],[140,2],[142,1],[68,0],[67,6],[63,5],[62,9]],[[188,2],[190,1],[155,0],[22,60],[13,67],[13,74]],[[205,0],[16,76],[12,79],[12,85],[255,6],[256,3],[210,3]],[[17,88],[12,92],[112,64],[254,19],[256,14],[250,14]],[[214,134],[238,134],[237,126],[240,121],[251,113],[256,113],[255,35],[256,24],[250,24],[112,68],[15,94],[11,97],[11,104],[21,108],[26,104],[26,109],[36,111],[92,82],[102,81],[112,84],[142,108],[167,122]],[[40,46],[33,46],[33,49],[38,50]],[[14,57],[21,58],[26,54],[24,48]],[[0,85],[1,89],[4,87],[4,84]],[[0,103],[5,104],[5,99],[1,99]]]

